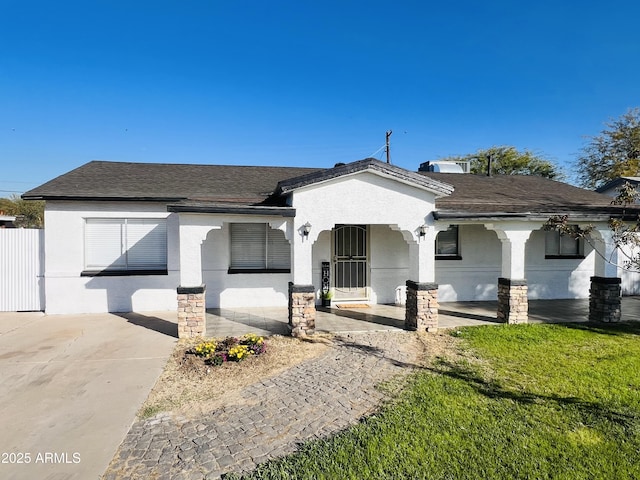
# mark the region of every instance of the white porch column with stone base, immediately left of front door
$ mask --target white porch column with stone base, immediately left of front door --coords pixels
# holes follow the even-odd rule
[[[316,328],[311,247],[318,238],[319,231],[313,225],[305,228],[305,223],[294,221],[290,235],[293,281],[289,282],[289,331],[294,337],[312,334]]]

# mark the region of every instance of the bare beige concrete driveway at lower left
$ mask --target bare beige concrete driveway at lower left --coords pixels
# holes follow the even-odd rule
[[[174,317],[0,313],[0,478],[99,479],[173,350]]]

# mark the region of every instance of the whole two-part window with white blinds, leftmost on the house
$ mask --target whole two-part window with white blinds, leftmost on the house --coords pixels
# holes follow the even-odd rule
[[[166,270],[167,225],[157,218],[87,218],[85,269]]]

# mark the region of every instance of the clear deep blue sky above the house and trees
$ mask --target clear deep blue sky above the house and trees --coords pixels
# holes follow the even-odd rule
[[[95,159],[383,158],[389,129],[408,169],[514,145],[570,173],[640,106],[637,1],[1,6],[0,196]]]

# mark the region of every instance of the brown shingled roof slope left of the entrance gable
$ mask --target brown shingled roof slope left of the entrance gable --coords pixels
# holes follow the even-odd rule
[[[281,180],[317,168],[89,162],[26,192],[27,200],[262,203]]]

